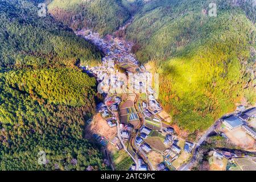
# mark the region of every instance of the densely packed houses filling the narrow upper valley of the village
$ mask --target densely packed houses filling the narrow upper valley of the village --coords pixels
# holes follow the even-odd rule
[[[87,66],[85,68],[98,77],[98,81],[102,82],[102,87],[105,86],[109,89],[124,89],[126,88],[127,84],[129,84],[129,86],[132,86],[132,88],[135,91],[138,91],[138,93],[147,93],[149,95],[148,107],[152,112],[156,114],[163,110],[160,104],[154,98],[155,92],[151,87],[152,75],[150,72],[146,71],[143,65],[139,67],[138,60],[131,53],[132,45],[130,43],[123,42],[122,40],[116,38],[113,39],[112,36],[108,36],[108,39],[111,41],[106,42],[104,39],[100,38],[99,34],[89,30],[86,32],[84,38],[93,42],[100,49],[102,49],[102,51],[106,52],[107,56],[102,59],[102,67],[89,68]],[[125,84],[125,81],[122,81],[122,78],[118,78],[116,75],[113,77],[109,76],[110,74],[108,72],[118,72],[118,70],[115,70],[114,68],[115,61],[119,63],[133,63],[138,67],[137,73],[127,71],[127,75],[129,76],[129,82],[127,84]]]

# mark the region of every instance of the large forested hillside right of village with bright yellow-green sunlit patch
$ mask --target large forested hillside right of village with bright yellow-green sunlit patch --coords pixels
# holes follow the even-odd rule
[[[151,1],[135,15],[126,38],[158,68],[160,100],[178,126],[205,130],[243,96],[255,103],[255,15],[253,1],[226,0]]]

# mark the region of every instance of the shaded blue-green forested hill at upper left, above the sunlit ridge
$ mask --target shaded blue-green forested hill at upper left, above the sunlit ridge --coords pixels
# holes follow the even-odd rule
[[[79,62],[100,62],[101,53],[96,47],[51,16],[38,16],[38,10],[37,4],[29,1],[1,1],[1,66],[72,67]]]

